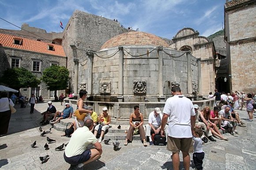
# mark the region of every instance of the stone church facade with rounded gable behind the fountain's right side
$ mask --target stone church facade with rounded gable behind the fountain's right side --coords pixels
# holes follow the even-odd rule
[[[179,51],[191,51],[201,63],[202,88],[199,94],[207,95],[215,89],[215,58],[216,51],[213,41],[192,28],[184,28],[173,37],[170,47]],[[193,70],[192,70],[193,72]]]

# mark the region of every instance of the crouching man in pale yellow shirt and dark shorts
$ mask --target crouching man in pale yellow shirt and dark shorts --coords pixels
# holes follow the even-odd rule
[[[64,152],[65,161],[71,164],[70,170],[80,169],[102,155],[102,145],[94,134],[90,132],[93,126],[93,120],[87,119],[84,126],[78,128],[72,134]],[[87,149],[89,144],[93,144],[95,148]]]

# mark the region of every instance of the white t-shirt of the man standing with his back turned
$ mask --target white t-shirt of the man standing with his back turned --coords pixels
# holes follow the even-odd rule
[[[190,99],[183,95],[174,95],[166,100],[163,113],[169,115],[168,135],[176,138],[190,138],[191,116],[195,116],[195,109]]]

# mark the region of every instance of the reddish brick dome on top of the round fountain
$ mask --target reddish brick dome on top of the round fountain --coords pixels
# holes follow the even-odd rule
[[[101,50],[120,45],[154,45],[169,47],[168,43],[158,36],[139,31],[130,31],[114,36],[102,45]]]

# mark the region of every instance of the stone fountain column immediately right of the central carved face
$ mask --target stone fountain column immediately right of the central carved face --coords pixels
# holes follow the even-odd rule
[[[163,47],[159,46],[158,49],[158,94],[163,95]]]

